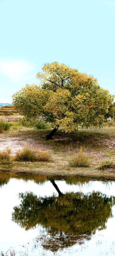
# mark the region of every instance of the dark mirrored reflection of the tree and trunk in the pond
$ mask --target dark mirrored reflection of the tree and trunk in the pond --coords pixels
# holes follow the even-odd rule
[[[112,217],[111,207],[115,204],[113,196],[100,192],[62,194],[54,180],[52,185],[59,196],[37,197],[32,192],[20,193],[21,204],[14,207],[12,220],[28,230],[41,224],[50,236],[43,240],[45,249],[57,251],[71,246],[82,238],[90,239],[96,230],[106,228]]]

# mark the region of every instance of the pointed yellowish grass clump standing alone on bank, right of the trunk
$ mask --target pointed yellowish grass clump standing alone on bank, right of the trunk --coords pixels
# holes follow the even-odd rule
[[[69,160],[69,165],[71,167],[88,167],[91,163],[92,159],[82,147],[79,151],[77,150],[76,154],[73,153],[72,158]]]

